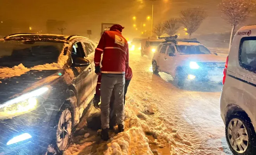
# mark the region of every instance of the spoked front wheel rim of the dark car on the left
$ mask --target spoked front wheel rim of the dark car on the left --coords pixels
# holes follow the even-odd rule
[[[57,125],[56,144],[60,151],[67,149],[72,134],[72,118],[71,107],[64,106],[59,113],[59,121]]]

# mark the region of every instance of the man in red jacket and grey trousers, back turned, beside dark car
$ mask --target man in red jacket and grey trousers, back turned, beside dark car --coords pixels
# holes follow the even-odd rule
[[[124,88],[125,74],[128,72],[129,66],[129,49],[128,42],[122,36],[121,25],[113,25],[110,31],[105,31],[99,41],[99,45],[95,50],[94,63],[95,73],[102,74],[101,77],[101,128],[102,139],[109,139],[109,103],[114,90],[115,101],[114,107],[116,111],[116,123],[118,131],[124,131]],[[100,61],[102,57],[102,68],[100,71]]]

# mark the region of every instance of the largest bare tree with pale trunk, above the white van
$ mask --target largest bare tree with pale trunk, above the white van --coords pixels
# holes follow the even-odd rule
[[[254,7],[254,2],[253,0],[222,0],[218,6],[224,15],[222,17],[232,26],[229,42],[230,50],[235,27],[246,20]]]

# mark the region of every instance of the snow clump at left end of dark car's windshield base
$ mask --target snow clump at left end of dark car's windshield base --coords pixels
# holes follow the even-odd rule
[[[29,69],[22,64],[16,65],[12,68],[9,68],[9,67],[0,68],[0,79],[5,79],[9,77],[14,77],[14,76],[21,76],[22,74],[28,71]]]

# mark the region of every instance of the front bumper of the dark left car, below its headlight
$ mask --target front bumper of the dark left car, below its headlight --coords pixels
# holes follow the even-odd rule
[[[47,151],[56,135],[55,118],[58,110],[51,110],[53,105],[43,104],[38,109],[12,119],[0,121],[0,154],[37,154]],[[28,134],[31,138],[7,145],[14,137]],[[21,139],[19,137],[19,139]]]

